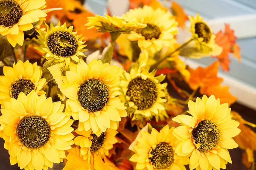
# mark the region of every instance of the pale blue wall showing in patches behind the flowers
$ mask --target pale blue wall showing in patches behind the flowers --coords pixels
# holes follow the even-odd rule
[[[87,5],[96,14],[105,13],[107,0],[87,0]],[[256,14],[256,0],[176,0],[184,8],[187,14],[199,13],[205,19],[218,17],[230,17],[243,14]],[[255,30],[256,31],[256,30]],[[239,39],[237,43],[241,47],[242,60],[239,63],[231,58],[230,72],[227,74],[241,82],[256,88],[256,38]],[[197,60],[203,65],[209,65],[214,59],[211,57]]]

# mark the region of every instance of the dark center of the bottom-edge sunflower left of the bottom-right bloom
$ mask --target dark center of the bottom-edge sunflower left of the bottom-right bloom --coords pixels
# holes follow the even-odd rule
[[[168,168],[173,162],[174,154],[172,147],[166,142],[157,144],[157,146],[152,149],[150,154],[152,156],[148,159],[154,168],[165,169]]]

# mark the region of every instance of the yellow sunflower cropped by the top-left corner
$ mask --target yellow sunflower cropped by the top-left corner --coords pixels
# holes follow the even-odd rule
[[[45,0],[0,0],[0,34],[6,35],[15,47],[23,45],[24,33],[33,28],[32,23],[45,20]]]

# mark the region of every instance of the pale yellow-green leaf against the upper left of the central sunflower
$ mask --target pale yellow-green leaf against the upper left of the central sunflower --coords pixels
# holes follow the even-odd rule
[[[52,74],[53,79],[55,79],[58,84],[58,88],[61,90],[62,88],[62,72],[64,70],[66,63],[61,62],[55,65],[48,67],[49,72]]]

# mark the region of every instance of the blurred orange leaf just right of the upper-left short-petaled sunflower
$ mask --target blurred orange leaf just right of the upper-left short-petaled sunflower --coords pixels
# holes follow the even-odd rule
[[[95,14],[85,11],[80,14],[76,14],[73,12],[67,12],[67,18],[70,20],[73,20],[73,26],[78,34],[82,34],[84,37],[84,41],[87,41],[89,39],[96,39],[101,33],[96,33],[96,30],[93,29],[87,29],[84,24],[87,23],[87,17],[93,17]]]

